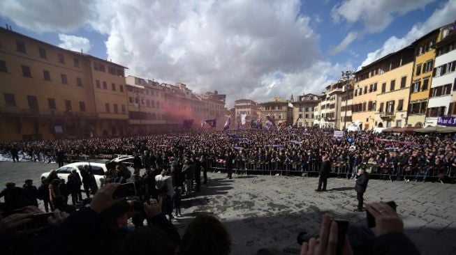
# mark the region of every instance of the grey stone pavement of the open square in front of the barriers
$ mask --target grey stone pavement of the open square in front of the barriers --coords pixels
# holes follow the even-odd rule
[[[42,172],[55,168],[56,164],[0,162],[0,185],[8,181],[22,185],[27,178],[38,184]],[[260,248],[274,254],[293,252],[299,249],[297,233],[318,233],[325,212],[365,225],[365,213],[353,212],[353,180],[330,178],[328,192],[317,193],[317,178],[234,176],[228,180],[223,173],[208,176],[200,194],[182,201],[184,217],[175,225],[184,233],[195,215],[214,213],[232,235],[232,254],[256,254]],[[370,180],[365,201],[381,200],[397,203],[406,235],[422,254],[456,254],[456,185]]]

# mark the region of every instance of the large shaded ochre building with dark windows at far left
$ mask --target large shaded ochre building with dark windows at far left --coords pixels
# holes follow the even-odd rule
[[[124,67],[8,29],[0,38],[0,140],[122,133]]]

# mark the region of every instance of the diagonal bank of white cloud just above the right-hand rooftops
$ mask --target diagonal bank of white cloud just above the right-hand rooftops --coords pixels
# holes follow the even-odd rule
[[[381,48],[376,49],[374,52],[369,52],[361,66],[368,65],[369,63],[376,61],[376,59],[380,59],[382,56],[396,52],[397,50],[410,45],[413,41],[417,40],[421,36],[424,36],[426,33],[439,28],[440,26],[454,22],[455,13],[456,1],[449,0],[443,6],[436,8],[434,13],[432,13],[432,15],[427,18],[424,23],[414,24],[411,31],[409,31],[406,36],[402,38],[392,36],[388,38],[385,43],[383,43]],[[358,67],[358,69],[361,68],[361,66]]]

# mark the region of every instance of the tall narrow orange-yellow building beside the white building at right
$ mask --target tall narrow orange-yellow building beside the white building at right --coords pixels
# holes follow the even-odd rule
[[[435,29],[416,40],[415,65],[410,91],[409,117],[407,124],[413,127],[423,127],[426,117],[429,89],[432,84],[432,69],[435,62],[434,45],[440,40],[441,29]]]

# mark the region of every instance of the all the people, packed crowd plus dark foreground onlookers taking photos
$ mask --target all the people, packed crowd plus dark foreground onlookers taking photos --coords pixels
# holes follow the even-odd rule
[[[40,187],[26,180],[23,187],[7,183],[1,192],[0,247],[4,254],[230,254],[231,238],[219,219],[201,215],[193,219],[182,238],[172,224],[181,215],[181,199],[198,194],[207,183],[207,171],[222,165],[227,178],[233,171],[267,166],[271,171],[310,175],[320,173],[317,191],[325,191],[332,172],[357,178],[358,210],[367,186],[366,173],[390,178],[454,178],[456,144],[453,137],[413,134],[348,133],[334,137],[332,130],[237,130],[161,134],[117,139],[3,142],[0,153],[17,160],[66,160],[96,155],[133,155],[130,171],[110,162],[98,187],[89,165],[73,171],[65,182],[51,171]],[[43,160],[44,159],[44,160]],[[141,170],[144,169],[141,175]],[[258,169],[258,167],[255,167]],[[426,171],[420,175],[421,171]],[[203,181],[201,180],[203,178]],[[135,196],[114,199],[119,185],[134,183]],[[85,199],[82,199],[82,192]],[[71,197],[71,205],[68,203]],[[35,215],[42,200],[45,224]],[[402,220],[384,203],[367,204],[377,224],[369,242],[370,254],[419,254],[402,233]],[[128,224],[131,219],[131,224]],[[302,244],[301,254],[335,254],[337,224],[323,218],[318,239]],[[145,224],[146,223],[146,224]],[[360,247],[344,243],[344,254],[361,254]],[[398,242],[400,240],[400,242]],[[358,253],[357,253],[358,251]],[[2,252],[3,254],[3,252]]]

